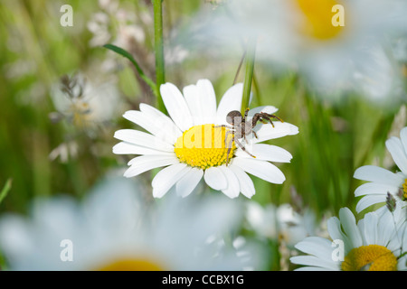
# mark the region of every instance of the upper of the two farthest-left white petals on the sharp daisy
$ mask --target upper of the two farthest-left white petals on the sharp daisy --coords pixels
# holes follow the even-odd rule
[[[135,129],[120,129],[115,132],[114,137],[130,144],[146,146],[158,151],[174,152],[174,145],[165,143],[155,135],[150,135]]]

